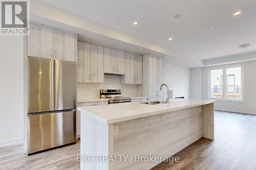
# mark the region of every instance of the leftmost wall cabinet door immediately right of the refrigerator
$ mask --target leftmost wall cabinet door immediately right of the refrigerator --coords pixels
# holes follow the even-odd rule
[[[91,82],[91,44],[77,41],[77,81]]]

